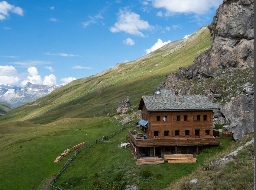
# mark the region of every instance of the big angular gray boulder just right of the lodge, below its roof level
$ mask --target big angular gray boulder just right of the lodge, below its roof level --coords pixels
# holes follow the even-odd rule
[[[253,116],[254,110],[254,99],[247,97],[245,95],[238,95],[230,102],[226,103],[220,108],[220,111],[230,122],[235,121],[248,112],[249,115]]]

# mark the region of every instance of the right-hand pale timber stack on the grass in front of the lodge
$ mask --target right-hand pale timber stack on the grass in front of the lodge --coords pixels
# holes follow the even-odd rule
[[[164,159],[168,163],[196,163],[193,154],[165,154]]]

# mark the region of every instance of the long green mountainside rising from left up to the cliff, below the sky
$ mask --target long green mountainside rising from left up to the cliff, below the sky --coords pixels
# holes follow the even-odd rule
[[[192,64],[209,47],[209,30],[202,27],[188,38],[171,42],[140,59],[72,81],[8,112],[0,122],[29,120],[45,124],[60,118],[102,116],[114,113],[115,106],[126,96],[137,105],[141,95],[152,94],[166,74]]]

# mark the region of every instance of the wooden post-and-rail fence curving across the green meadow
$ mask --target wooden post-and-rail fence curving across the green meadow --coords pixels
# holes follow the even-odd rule
[[[133,125],[133,124],[132,124],[132,125]],[[131,125],[128,125],[128,126],[131,126]],[[56,182],[56,180],[58,179],[58,177],[60,176],[60,174],[66,169],[66,167],[69,165],[69,163],[76,157],[76,155],[77,155],[81,150],[84,150],[84,149],[86,149],[86,148],[89,148],[89,147],[91,147],[92,145],[97,144],[98,142],[106,141],[106,140],[108,140],[109,138],[114,137],[115,135],[117,135],[118,133],[120,133],[120,132],[121,132],[122,130],[124,130],[124,129],[125,129],[125,126],[123,126],[123,127],[122,127],[121,129],[119,129],[118,131],[112,133],[111,135],[106,135],[106,136],[104,135],[104,136],[102,136],[102,137],[96,139],[95,141],[91,142],[90,144],[86,144],[85,146],[78,148],[78,149],[74,152],[73,156],[72,156],[71,158],[69,158],[69,159],[66,161],[65,165],[59,170],[59,172],[57,173],[57,175],[55,176],[55,178],[49,183],[50,188],[55,189],[55,190],[63,190],[63,189],[61,189],[61,188],[59,188],[59,187],[53,186],[53,183]]]

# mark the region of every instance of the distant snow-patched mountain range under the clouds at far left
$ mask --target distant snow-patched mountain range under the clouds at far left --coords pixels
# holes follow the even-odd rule
[[[28,82],[24,87],[0,84],[0,101],[13,107],[21,106],[51,93],[62,85],[41,85]]]

